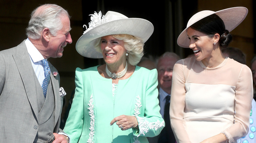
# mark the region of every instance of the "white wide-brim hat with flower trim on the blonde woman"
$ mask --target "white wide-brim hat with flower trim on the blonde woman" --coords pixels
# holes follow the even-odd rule
[[[153,24],[145,19],[128,18],[114,11],[108,11],[102,18],[101,16],[101,11],[98,14],[91,14],[89,28],[77,40],[75,48],[80,55],[103,58],[102,53],[95,48],[95,40],[103,36],[129,34],[145,43],[154,31]]]

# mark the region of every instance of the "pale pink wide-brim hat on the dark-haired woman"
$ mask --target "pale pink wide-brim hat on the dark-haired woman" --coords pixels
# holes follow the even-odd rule
[[[219,10],[216,12],[211,10],[203,10],[196,13],[189,19],[187,27],[181,32],[180,36],[178,37],[178,45],[184,48],[189,48],[190,40],[188,39],[187,36],[188,27],[214,13],[217,14],[223,20],[226,30],[230,32],[245,19],[248,13],[248,9],[245,7],[234,7]]]

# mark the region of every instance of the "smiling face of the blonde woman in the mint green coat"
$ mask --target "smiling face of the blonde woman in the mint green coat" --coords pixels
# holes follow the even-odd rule
[[[123,40],[117,40],[111,35],[104,36],[101,37],[100,47],[103,59],[108,65],[119,67],[121,64],[125,64],[126,49]]]

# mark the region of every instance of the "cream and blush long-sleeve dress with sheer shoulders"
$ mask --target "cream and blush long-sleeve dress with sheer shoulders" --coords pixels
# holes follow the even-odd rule
[[[199,143],[224,132],[229,142],[248,132],[253,98],[252,73],[226,57],[207,68],[195,57],[181,59],[173,70],[171,126],[178,143]]]

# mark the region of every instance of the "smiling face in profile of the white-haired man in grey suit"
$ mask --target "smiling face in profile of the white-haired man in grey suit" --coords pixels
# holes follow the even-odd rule
[[[69,33],[70,31],[70,20],[67,15],[63,16],[61,18],[62,22],[62,29],[57,32],[56,36],[53,36],[49,34],[49,43],[48,43],[48,51],[49,57],[61,57],[64,51],[64,47],[67,44],[72,43],[71,35]]]

